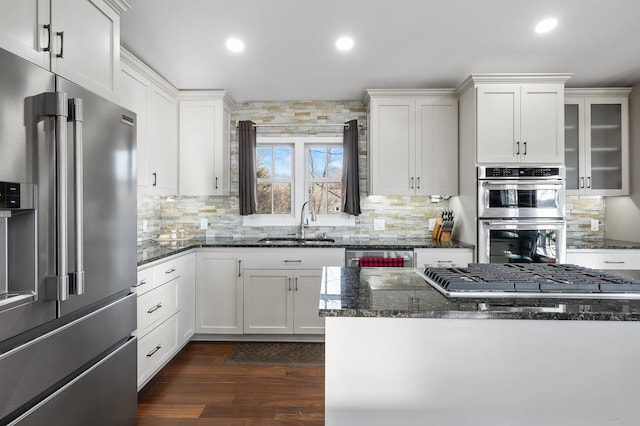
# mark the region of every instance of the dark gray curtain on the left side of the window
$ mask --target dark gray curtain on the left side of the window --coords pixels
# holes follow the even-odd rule
[[[256,128],[253,121],[238,122],[240,215],[258,211],[256,176]]]

